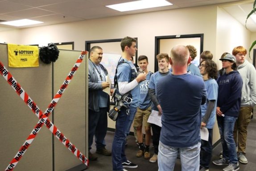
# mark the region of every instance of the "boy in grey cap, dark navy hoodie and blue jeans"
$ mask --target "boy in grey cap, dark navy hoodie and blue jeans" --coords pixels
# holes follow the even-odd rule
[[[213,163],[228,165],[223,171],[238,171],[233,130],[240,110],[243,80],[236,71],[236,60],[233,55],[227,54],[219,60],[222,61],[222,67],[225,69],[225,73],[217,80],[219,90],[216,109],[223,159],[215,160]]]

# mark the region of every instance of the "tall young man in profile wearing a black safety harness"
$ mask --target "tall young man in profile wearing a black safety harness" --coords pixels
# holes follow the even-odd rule
[[[113,171],[126,171],[124,167],[136,168],[138,165],[130,162],[125,156],[125,141],[130,131],[133,118],[139,103],[140,86],[139,83],[146,79],[146,73],[137,73],[136,67],[131,61],[137,51],[136,39],[124,37],[121,41],[122,57],[117,66],[117,83],[121,95],[130,92],[132,102],[124,103],[128,109],[122,107],[116,119],[116,132],[112,144],[112,164]]]

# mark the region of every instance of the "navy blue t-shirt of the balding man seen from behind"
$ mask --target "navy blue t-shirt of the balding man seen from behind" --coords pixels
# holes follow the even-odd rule
[[[171,147],[191,147],[201,141],[201,110],[207,92],[202,77],[169,74],[157,82],[162,108],[160,141]]]

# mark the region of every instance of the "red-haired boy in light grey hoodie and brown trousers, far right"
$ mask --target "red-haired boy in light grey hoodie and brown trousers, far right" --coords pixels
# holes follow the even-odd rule
[[[245,59],[247,50],[243,46],[237,46],[232,54],[235,56],[237,71],[243,79],[241,107],[239,116],[235,122],[234,139],[237,145],[238,159],[240,163],[247,164],[245,157],[247,127],[251,121],[252,109],[256,104],[256,69]]]

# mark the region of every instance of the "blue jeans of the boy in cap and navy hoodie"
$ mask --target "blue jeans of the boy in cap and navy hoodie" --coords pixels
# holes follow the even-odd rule
[[[233,137],[233,130],[237,117],[217,116],[219,127],[220,140],[223,148],[223,158],[229,160],[229,163],[237,163],[237,154],[235,150],[235,141]]]

